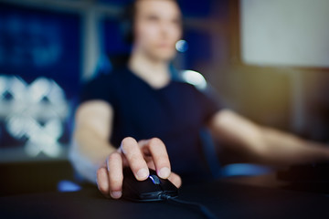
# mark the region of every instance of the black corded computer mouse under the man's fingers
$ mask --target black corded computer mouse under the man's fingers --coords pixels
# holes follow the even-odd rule
[[[135,202],[162,201],[163,195],[177,197],[178,189],[169,180],[161,179],[150,169],[149,177],[138,181],[130,168],[123,168],[122,198]]]

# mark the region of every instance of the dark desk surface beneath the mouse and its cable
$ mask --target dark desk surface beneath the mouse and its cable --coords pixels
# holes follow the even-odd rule
[[[183,186],[180,199],[205,204],[218,218],[329,218],[329,195],[228,181]],[[96,188],[75,193],[0,197],[1,218],[204,218],[173,203],[108,200]]]

